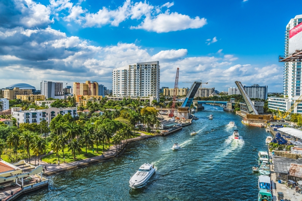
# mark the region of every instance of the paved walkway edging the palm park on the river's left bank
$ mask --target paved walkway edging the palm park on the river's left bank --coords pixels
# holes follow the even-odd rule
[[[138,132],[138,133],[140,133],[140,132]],[[127,142],[131,142],[131,141],[134,141],[134,140],[137,140],[137,139],[140,139],[140,138],[145,138],[146,136],[149,136],[149,135],[146,135],[145,133],[140,133],[140,134],[141,134],[140,136],[128,139]],[[104,152],[104,156],[105,157],[112,156],[115,153],[116,153],[116,146],[112,145],[112,146],[110,146],[110,148],[108,150],[106,150]],[[100,158],[102,158],[102,155],[98,155],[98,156],[95,156],[95,157],[92,157],[92,158],[87,158],[87,159],[83,159],[83,160],[79,160],[79,161],[75,161],[75,162],[70,162],[70,163],[64,163],[63,161],[60,161],[60,165],[50,164],[50,163],[46,163],[46,162],[43,162],[43,161],[42,162],[39,161],[39,165],[43,165],[43,167],[45,167],[45,165],[46,165],[47,171],[45,171],[45,173],[48,173],[48,172],[57,171],[57,170],[60,170],[60,169],[63,169],[63,168],[68,168],[68,167],[71,167],[71,166],[74,166],[74,165],[79,165],[81,163],[94,161],[94,160],[97,160],[97,159],[100,159]],[[31,164],[34,164],[34,158],[31,159]]]

